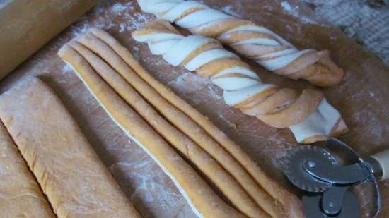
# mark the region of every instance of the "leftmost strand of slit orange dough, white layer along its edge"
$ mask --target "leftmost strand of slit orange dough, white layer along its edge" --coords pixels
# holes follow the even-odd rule
[[[199,217],[245,217],[223,202],[194,169],[100,78],[83,56],[69,44],[59,50],[59,56],[74,67],[79,78],[124,133],[170,176]]]

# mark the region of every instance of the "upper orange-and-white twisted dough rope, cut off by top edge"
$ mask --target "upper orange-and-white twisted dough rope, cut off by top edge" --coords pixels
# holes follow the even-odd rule
[[[343,71],[327,50],[298,50],[267,28],[236,18],[197,1],[137,0],[141,9],[169,20],[193,34],[213,37],[261,66],[291,79],[304,79],[320,87],[335,85]],[[168,42],[166,42],[168,43]]]

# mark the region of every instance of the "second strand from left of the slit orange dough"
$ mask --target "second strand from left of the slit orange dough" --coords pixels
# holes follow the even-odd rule
[[[79,37],[83,38],[83,37]],[[76,39],[76,40],[79,40]],[[85,40],[93,40],[91,36]],[[149,123],[168,143],[180,151],[190,162],[194,163],[219,190],[230,200],[238,210],[248,217],[269,217],[255,202],[248,193],[243,190],[240,184],[228,174],[227,171],[211,156],[202,150],[185,134],[178,131],[166,121],[158,112],[129,85],[122,76],[108,66],[105,61],[93,54],[90,50],[78,42],[70,42],[69,45],[75,49],[94,68],[96,73],[105,80],[113,90],[117,92],[142,118]],[[108,53],[108,52],[107,52]],[[109,54],[109,53],[108,53]],[[266,195],[262,194],[262,198]],[[277,217],[280,217],[277,214]]]

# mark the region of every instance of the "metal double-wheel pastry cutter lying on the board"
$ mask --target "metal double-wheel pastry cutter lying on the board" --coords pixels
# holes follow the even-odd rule
[[[389,178],[389,150],[362,159],[330,138],[294,147],[281,163],[289,181],[303,190],[306,218],[371,218],[381,210],[378,181]]]

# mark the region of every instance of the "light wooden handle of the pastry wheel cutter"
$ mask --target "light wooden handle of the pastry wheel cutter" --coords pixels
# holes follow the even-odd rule
[[[379,152],[376,155],[371,155],[371,166],[373,167],[373,173],[377,176],[378,180],[385,180],[389,178],[389,150]],[[374,163],[376,161],[376,163]],[[369,161],[370,162],[370,161]],[[381,169],[380,169],[381,168]],[[380,172],[381,171],[381,172]],[[379,176],[381,174],[381,176]]]

